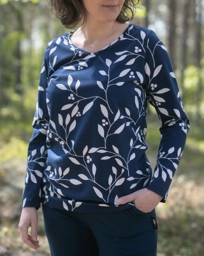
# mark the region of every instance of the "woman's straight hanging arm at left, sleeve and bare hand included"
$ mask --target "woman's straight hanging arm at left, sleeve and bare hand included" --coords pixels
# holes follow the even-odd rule
[[[45,50],[38,87],[38,102],[33,121],[33,135],[29,142],[27,171],[22,198],[22,214],[18,228],[24,243],[37,250],[38,245],[38,213],[41,202],[41,182],[45,161],[47,159],[47,130],[49,113],[46,102],[46,88],[48,86],[49,49]],[[31,235],[28,229],[31,227]]]

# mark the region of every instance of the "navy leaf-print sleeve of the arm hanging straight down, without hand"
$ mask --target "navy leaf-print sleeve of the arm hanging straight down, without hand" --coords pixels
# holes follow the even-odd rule
[[[46,102],[46,88],[48,86],[48,46],[45,50],[43,64],[38,87],[38,101],[33,120],[33,135],[29,142],[27,156],[27,172],[25,177],[25,187],[22,199],[22,207],[40,207],[41,184],[43,182],[43,172],[47,159],[47,131],[49,113]]]

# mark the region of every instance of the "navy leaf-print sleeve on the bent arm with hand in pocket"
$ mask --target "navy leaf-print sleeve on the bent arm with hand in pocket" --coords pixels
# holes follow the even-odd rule
[[[161,120],[157,164],[148,189],[163,196],[161,202],[166,202],[171,180],[186,143],[189,120],[182,107],[166,47],[153,31],[147,45],[145,76],[147,97]]]

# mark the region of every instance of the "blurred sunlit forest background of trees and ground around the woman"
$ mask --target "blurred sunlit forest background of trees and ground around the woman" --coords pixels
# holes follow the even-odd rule
[[[157,207],[158,256],[204,255],[204,1],[143,0],[132,23],[156,31],[170,54],[191,131],[168,201]],[[0,0],[0,255],[50,255],[39,210],[40,249],[20,239],[18,220],[45,46],[66,33],[47,0]],[[159,121],[149,108],[147,141],[156,163]]]

